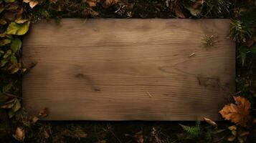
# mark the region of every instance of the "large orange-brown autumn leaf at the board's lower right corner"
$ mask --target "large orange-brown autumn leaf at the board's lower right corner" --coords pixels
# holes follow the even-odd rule
[[[248,127],[252,117],[250,115],[251,104],[244,97],[234,97],[235,104],[227,104],[223,107],[220,114],[225,120],[230,120],[234,124]]]

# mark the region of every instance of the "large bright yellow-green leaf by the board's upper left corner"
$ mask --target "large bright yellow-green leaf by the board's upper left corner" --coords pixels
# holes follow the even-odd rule
[[[23,24],[16,24],[15,22],[11,22],[7,27],[6,34],[12,35],[24,35],[29,30],[29,21],[24,22]]]

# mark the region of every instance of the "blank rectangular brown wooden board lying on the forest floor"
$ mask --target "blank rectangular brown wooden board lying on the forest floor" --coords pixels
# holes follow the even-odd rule
[[[49,120],[219,120],[234,92],[228,19],[62,19],[24,38],[24,107]],[[214,46],[202,38],[214,35]]]

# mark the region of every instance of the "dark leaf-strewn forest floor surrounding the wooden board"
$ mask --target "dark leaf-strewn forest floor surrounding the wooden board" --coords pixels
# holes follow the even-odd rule
[[[46,122],[30,117],[22,102],[22,35],[42,19],[232,19],[236,41],[237,98],[229,121]],[[24,20],[26,19],[26,20]],[[27,21],[29,20],[29,21]],[[0,142],[256,142],[255,0],[0,0]],[[241,98],[240,98],[241,96]],[[50,113],[49,113],[50,114]],[[229,115],[230,115],[229,114]]]

